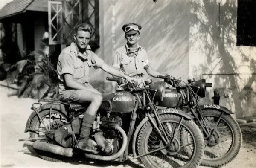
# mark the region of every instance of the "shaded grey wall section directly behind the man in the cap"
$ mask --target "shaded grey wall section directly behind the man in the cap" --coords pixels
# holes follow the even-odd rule
[[[146,49],[152,67],[164,74],[188,78],[189,1],[100,0],[99,6],[101,47],[96,53],[107,64],[112,64],[113,52],[126,43],[122,26],[138,23],[142,26],[139,44]],[[93,76],[92,80],[102,77],[98,70]],[[104,73],[104,79],[107,76]],[[107,82],[105,91],[111,90]]]

